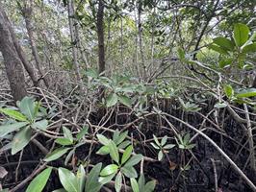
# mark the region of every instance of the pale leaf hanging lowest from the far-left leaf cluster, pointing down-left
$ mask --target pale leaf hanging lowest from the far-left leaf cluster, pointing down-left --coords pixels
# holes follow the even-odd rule
[[[29,143],[31,139],[32,130],[26,127],[17,132],[13,137],[12,155],[21,151]]]

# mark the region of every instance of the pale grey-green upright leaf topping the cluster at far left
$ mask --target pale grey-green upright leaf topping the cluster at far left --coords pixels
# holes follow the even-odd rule
[[[20,111],[30,120],[35,118],[35,103],[32,97],[24,97],[19,104]]]

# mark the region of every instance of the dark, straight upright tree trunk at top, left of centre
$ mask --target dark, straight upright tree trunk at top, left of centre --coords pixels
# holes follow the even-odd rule
[[[104,48],[104,1],[99,0],[97,12],[97,35],[98,35],[98,65],[99,73],[105,71],[105,48]]]

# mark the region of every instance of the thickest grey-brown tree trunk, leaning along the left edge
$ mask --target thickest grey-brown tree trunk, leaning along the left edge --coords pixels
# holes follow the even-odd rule
[[[8,18],[0,3],[0,51],[2,52],[5,68],[13,93],[14,101],[21,100],[27,95],[22,62],[18,57],[9,30]]]

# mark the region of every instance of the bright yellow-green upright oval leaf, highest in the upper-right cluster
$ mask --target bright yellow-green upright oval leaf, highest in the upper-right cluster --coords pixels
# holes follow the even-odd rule
[[[235,24],[234,39],[237,46],[243,46],[243,44],[248,40],[249,32],[249,28],[246,25],[242,23]]]

